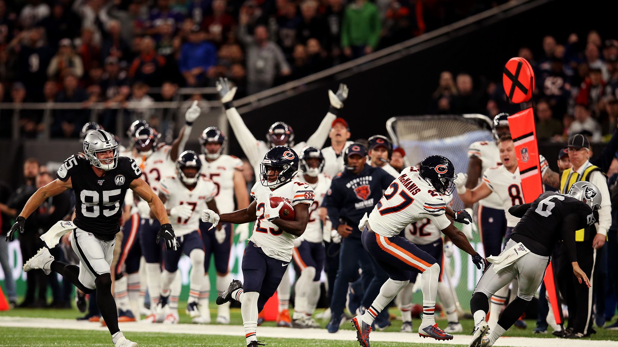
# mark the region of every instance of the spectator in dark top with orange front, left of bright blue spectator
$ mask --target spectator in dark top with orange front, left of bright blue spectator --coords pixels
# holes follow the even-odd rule
[[[134,81],[144,82],[148,86],[160,86],[163,80],[161,70],[166,61],[165,58],[155,52],[155,40],[146,36],[140,43],[140,56],[135,58],[129,69],[129,78]]]

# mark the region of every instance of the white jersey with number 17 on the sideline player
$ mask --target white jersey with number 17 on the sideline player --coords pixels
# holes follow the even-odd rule
[[[179,178],[170,176],[163,178],[163,180],[159,182],[159,191],[163,193],[167,199],[165,202],[166,209],[185,204],[190,206],[193,210],[193,214],[188,219],[182,219],[180,217],[169,219],[172,227],[174,227],[176,236],[184,236],[198,230],[200,227],[201,211],[208,209],[206,203],[214,199],[214,196],[217,194],[217,187],[206,176],[201,175],[197,180],[195,188],[193,188],[193,190],[188,190],[188,188],[180,182]]]

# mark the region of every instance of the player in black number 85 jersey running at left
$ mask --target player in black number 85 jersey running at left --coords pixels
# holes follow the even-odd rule
[[[177,249],[178,246],[163,203],[140,178],[141,175],[142,171],[133,159],[118,156],[118,144],[110,133],[93,130],[83,140],[83,153],[70,156],[56,172],[57,179],[33,194],[6,236],[6,240],[11,241],[16,231],[23,233],[25,220],[49,197],[69,188],[75,191],[73,222],[59,222],[41,238],[47,245],[56,245],[62,235],[72,231],[71,246],[80,259],[80,265],[56,261],[48,248],[41,248],[23,265],[23,270],[43,269],[46,274],[57,272],[69,278],[84,293],[91,293],[96,288],[99,311],[116,347],[137,347],[137,343],[127,340],[118,328],[116,302],[111,292],[114,239],[120,230],[121,205],[127,190],[133,190],[147,201],[161,222],[157,241],[163,238],[167,249]]]

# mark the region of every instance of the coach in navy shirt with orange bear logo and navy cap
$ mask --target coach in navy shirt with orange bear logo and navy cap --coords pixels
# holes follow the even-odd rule
[[[339,253],[339,270],[331,298],[332,317],[327,327],[329,333],[339,330],[348,282],[358,274],[359,267],[363,270],[361,280],[365,293],[361,305],[364,307],[371,305],[378,296],[380,286],[388,278],[363,248],[358,223],[365,213],[368,214],[373,210],[373,206],[382,198],[384,190],[395,177],[379,167],[367,165],[366,150],[360,143],[353,143],[345,149],[344,163],[345,169],[332,180],[326,198],[326,209],[332,228],[343,238]],[[376,319],[378,325],[386,322],[387,314],[382,320]]]

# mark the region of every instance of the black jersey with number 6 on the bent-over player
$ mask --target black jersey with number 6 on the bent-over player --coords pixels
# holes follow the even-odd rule
[[[526,204],[527,205],[527,204]],[[525,206],[525,205],[521,205]],[[511,209],[519,206],[511,207]],[[510,209],[509,209],[510,211]],[[557,241],[564,240],[565,233],[575,244],[575,230],[585,228],[595,221],[593,212],[588,204],[573,198],[570,195],[555,192],[546,192],[536,198],[513,229],[511,238],[524,242],[533,253],[540,256],[549,256]],[[520,238],[520,236],[523,236]],[[571,240],[572,239],[572,240]]]

